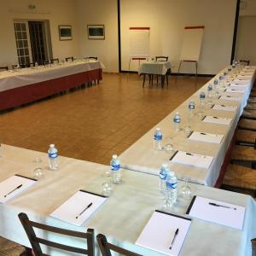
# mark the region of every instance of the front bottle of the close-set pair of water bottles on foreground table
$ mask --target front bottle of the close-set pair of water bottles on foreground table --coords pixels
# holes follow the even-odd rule
[[[169,172],[166,177],[166,203],[172,207],[177,201],[177,177],[174,172]]]

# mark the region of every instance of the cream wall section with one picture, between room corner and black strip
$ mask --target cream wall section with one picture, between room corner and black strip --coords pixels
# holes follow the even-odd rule
[[[77,0],[76,3],[80,55],[98,56],[106,67],[105,72],[118,72],[117,1]],[[88,24],[104,25],[105,40],[88,39]]]

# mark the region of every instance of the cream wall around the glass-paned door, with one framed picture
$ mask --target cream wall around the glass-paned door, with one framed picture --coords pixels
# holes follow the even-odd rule
[[[29,13],[27,4],[36,5],[34,13]],[[33,19],[49,20],[53,56],[63,59],[69,55],[78,55],[77,26],[75,26],[75,11],[73,0],[0,0],[0,66],[17,63],[14,20]],[[40,14],[44,13],[44,14]],[[46,13],[46,14],[45,14]],[[73,40],[60,41],[58,26],[72,25]]]

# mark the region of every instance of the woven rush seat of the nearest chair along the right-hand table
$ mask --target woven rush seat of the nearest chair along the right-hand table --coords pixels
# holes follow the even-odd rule
[[[241,189],[256,189],[256,171],[245,167],[229,165],[224,175],[224,185]]]

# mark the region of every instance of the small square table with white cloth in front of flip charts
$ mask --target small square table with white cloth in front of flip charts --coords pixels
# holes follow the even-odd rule
[[[145,75],[160,75],[161,76],[161,85],[163,86],[165,82],[166,73],[171,74],[171,62],[170,61],[148,61],[143,62],[139,69],[138,74],[143,74],[143,85],[145,83]]]

